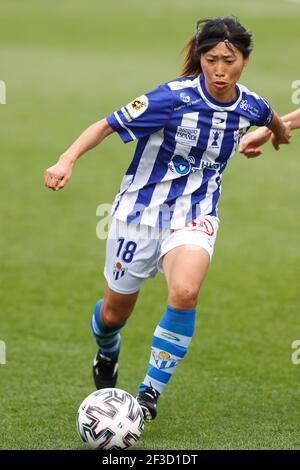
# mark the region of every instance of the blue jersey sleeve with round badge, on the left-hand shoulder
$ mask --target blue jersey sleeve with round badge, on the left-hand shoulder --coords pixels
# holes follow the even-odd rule
[[[106,120],[126,143],[162,129],[172,112],[172,91],[163,84],[110,114]]]

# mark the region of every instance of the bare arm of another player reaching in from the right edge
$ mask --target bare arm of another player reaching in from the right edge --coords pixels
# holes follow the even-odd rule
[[[289,114],[286,114],[285,116],[282,116],[281,119],[284,122],[288,122],[291,126],[291,129],[299,129],[300,108],[296,109],[295,111],[292,111]],[[271,136],[273,146],[276,150],[278,150],[276,142],[274,145],[274,136],[272,134],[272,131],[267,127],[260,127],[259,129],[250,132],[242,138],[239,151],[243,153],[247,158],[259,157],[259,155],[263,153],[260,146],[268,142]]]

